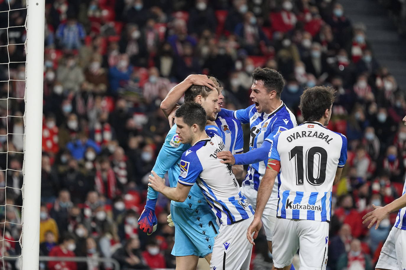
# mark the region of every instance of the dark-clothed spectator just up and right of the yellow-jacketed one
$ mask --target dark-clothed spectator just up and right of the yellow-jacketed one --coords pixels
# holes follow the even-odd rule
[[[69,191],[66,189],[59,191],[59,196],[55,200],[54,206],[50,212],[50,216],[55,219],[59,230],[62,232],[66,232],[68,230],[68,215],[72,206],[73,203],[71,202]]]

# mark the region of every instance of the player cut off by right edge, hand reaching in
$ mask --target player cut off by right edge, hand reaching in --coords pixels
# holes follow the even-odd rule
[[[406,116],[403,118],[406,125]],[[406,181],[403,187],[403,193],[400,198],[397,198],[386,206],[374,206],[375,210],[367,213],[363,219],[363,223],[371,221],[368,229],[376,222],[375,229],[378,229],[379,223],[386,218],[389,213],[399,210],[397,213],[395,225],[393,225],[389,236],[386,239],[381,253],[379,255],[376,270],[398,270],[406,269]]]

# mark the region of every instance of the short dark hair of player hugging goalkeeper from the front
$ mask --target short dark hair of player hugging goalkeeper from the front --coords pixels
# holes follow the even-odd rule
[[[175,112],[175,117],[183,118],[186,125],[190,127],[197,124],[202,131],[207,122],[206,111],[196,102],[188,102],[180,106]]]

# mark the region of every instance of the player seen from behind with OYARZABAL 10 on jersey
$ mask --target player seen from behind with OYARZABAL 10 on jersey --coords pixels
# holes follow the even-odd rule
[[[304,90],[299,108],[305,122],[274,138],[247,238],[253,244],[252,233],[253,238],[258,235],[261,215],[281,170],[272,242],[276,269],[289,269],[299,247],[300,269],[326,269],[332,188],[347,160],[347,138],[324,128],[333,101],[332,88]]]

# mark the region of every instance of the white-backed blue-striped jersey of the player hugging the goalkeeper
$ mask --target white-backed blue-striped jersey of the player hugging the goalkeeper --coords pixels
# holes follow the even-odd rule
[[[217,158],[223,150],[225,145],[218,135],[196,142],[181,157],[178,182],[196,182],[220,223],[229,225],[252,217],[254,210],[241,195],[231,165]]]

